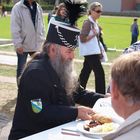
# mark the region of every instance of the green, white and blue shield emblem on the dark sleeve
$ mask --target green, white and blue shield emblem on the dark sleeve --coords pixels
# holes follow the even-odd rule
[[[39,113],[42,110],[42,101],[41,99],[31,100],[31,106],[34,113]]]

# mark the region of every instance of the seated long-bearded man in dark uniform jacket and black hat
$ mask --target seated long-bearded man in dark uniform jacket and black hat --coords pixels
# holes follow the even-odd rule
[[[91,119],[95,101],[103,95],[80,87],[73,69],[79,30],[53,21],[42,52],[26,66],[9,140],[20,139],[76,120]],[[84,106],[75,106],[75,103]],[[88,107],[85,107],[88,106]]]

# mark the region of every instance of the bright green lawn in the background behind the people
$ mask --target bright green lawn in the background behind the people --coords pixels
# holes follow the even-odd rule
[[[81,28],[86,16],[78,20],[78,27]],[[130,25],[132,17],[101,16],[99,24],[103,28],[104,41],[109,48],[124,49],[129,46],[131,40]],[[47,29],[47,15],[44,15],[44,23]],[[140,25],[140,21],[138,20]],[[0,38],[11,38],[10,17],[0,18]]]

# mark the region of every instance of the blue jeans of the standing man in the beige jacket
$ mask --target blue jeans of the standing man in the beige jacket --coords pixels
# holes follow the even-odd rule
[[[17,53],[17,79],[20,77],[24,70],[28,54],[31,56],[34,53],[35,52],[23,52],[23,54]]]

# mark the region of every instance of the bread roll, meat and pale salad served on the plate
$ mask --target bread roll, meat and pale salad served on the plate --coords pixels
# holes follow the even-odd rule
[[[83,128],[86,131],[94,133],[107,133],[118,128],[118,124],[112,121],[112,118],[101,114],[93,114],[92,120],[86,121]]]

